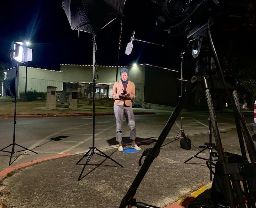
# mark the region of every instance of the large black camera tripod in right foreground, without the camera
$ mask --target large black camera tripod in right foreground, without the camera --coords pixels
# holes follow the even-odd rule
[[[249,207],[255,207],[255,190],[253,190],[255,180],[255,177],[252,179],[249,174],[252,173],[248,171],[247,173],[242,173],[239,170],[244,169],[244,167],[247,165],[251,170],[256,169],[256,149],[252,140],[252,136],[248,130],[248,127],[245,122],[245,118],[243,115],[243,111],[240,106],[238,94],[236,91],[236,86],[231,85],[230,83],[226,83],[222,68],[220,65],[220,60],[217,56],[217,52],[215,50],[215,46],[212,41],[212,35],[210,31],[210,22],[212,18],[209,18],[208,23],[205,24],[200,31],[197,30],[196,35],[202,31],[202,33],[199,33],[199,35],[206,33],[209,37],[209,42],[212,47],[212,53],[215,57],[215,62],[219,71],[219,75],[197,75],[193,76],[191,78],[191,82],[188,83],[186,90],[179,100],[178,104],[176,105],[175,109],[173,110],[170,118],[168,119],[167,123],[164,126],[163,131],[159,135],[159,138],[157,139],[155,145],[153,148],[146,149],[143,154],[140,157],[139,164],[141,165],[141,159],[145,156],[144,163],[142,164],[140,171],[136,175],[134,181],[132,182],[129,190],[127,191],[126,195],[123,197],[119,208],[125,208],[126,206],[136,206],[136,207],[152,207],[152,206],[145,206],[145,204],[142,204],[140,202],[136,202],[136,199],[134,198],[134,195],[136,193],[136,190],[138,189],[140,182],[142,181],[143,177],[146,175],[150,165],[153,163],[154,159],[158,156],[160,152],[160,147],[163,144],[165,138],[169,134],[173,124],[175,123],[176,119],[178,118],[181,109],[183,106],[187,103],[188,98],[190,97],[191,93],[196,89],[198,84],[202,84],[204,86],[204,91],[206,95],[206,101],[210,113],[210,118],[212,122],[212,128],[214,132],[215,142],[216,142],[216,149],[218,150],[219,158],[218,161],[220,162],[220,173],[221,173],[221,183],[223,184],[223,197],[225,197],[226,203],[221,207],[237,207],[237,204],[241,208],[245,208],[245,201],[248,201]],[[197,29],[197,28],[196,28]],[[206,30],[207,29],[207,30]],[[198,39],[198,42],[200,40]],[[199,53],[199,52],[198,52]],[[197,53],[197,55],[198,55]],[[244,164],[234,164],[234,166],[230,166],[226,162],[224,149],[221,143],[220,138],[220,131],[216,119],[216,114],[214,110],[214,105],[212,101],[212,90],[218,90],[220,92],[225,92],[232,104],[233,111],[234,111],[234,117],[236,122],[236,129],[237,129],[237,135],[238,140],[240,144],[241,149],[241,155],[243,158],[243,161],[245,161]],[[246,156],[245,151],[245,144],[248,150],[248,155],[250,156],[251,163],[248,163],[248,158]],[[242,176],[245,176],[243,178]],[[240,184],[240,181],[237,180],[240,176],[240,181],[243,181],[243,189],[245,190],[244,193],[242,192],[242,186]],[[255,174],[254,174],[255,176]],[[232,183],[231,183],[232,181]],[[215,200],[218,200],[218,198],[215,197]],[[200,202],[202,203],[202,202]],[[194,207],[200,207],[201,205],[198,204],[198,206]],[[201,206],[202,207],[202,206]],[[204,206],[205,207],[205,206]],[[215,207],[215,206],[214,206]]]

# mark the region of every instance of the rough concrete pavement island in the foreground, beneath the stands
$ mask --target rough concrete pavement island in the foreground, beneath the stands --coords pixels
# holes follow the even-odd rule
[[[221,131],[220,136],[225,151],[240,154],[236,129]],[[137,202],[157,207],[185,207],[185,199],[193,199],[202,190],[211,187],[210,171],[205,160],[192,158],[184,164],[202,150],[199,146],[209,142],[209,134],[190,135],[189,138],[192,143],[190,150],[180,148],[179,140],[165,139],[163,144],[171,143],[160,148],[158,157],[145,174],[134,195]],[[123,167],[109,158],[93,154],[82,171],[87,159],[83,158],[85,153],[62,155],[65,157],[50,160],[45,158],[45,161],[34,161],[35,164],[23,164],[24,167],[21,164],[18,169],[13,166],[10,173],[6,170],[0,172],[3,176],[1,193],[4,193],[0,201],[19,208],[119,207],[140,170],[138,161],[141,154],[154,144],[155,140],[138,143],[142,149],[138,153],[118,152],[117,146],[101,150]],[[209,158],[209,150],[199,156]],[[82,178],[78,181],[81,173]],[[198,189],[199,192],[195,192]]]

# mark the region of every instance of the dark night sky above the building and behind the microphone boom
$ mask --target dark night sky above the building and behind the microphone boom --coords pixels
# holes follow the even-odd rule
[[[0,12],[0,61],[16,65],[9,58],[11,42],[30,41],[33,50],[28,66],[59,70],[60,64],[92,65],[92,34],[72,31],[62,9],[62,0],[3,0]],[[156,26],[157,4],[148,0],[127,0],[122,21],[119,50],[120,19],[96,34],[97,65],[153,64],[177,69],[184,42]],[[135,38],[161,44],[165,48],[139,41],[133,42],[131,55],[125,48],[132,32]],[[183,40],[184,38],[182,38]]]

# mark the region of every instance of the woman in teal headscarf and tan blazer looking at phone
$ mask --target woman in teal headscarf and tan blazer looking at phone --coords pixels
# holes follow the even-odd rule
[[[130,139],[132,140],[131,147],[135,150],[141,150],[135,142],[136,129],[135,119],[132,111],[132,99],[135,98],[135,85],[129,81],[129,71],[123,68],[120,72],[121,80],[116,81],[111,98],[114,102],[114,113],[116,116],[116,141],[119,143],[118,151],[123,151],[122,136],[123,136],[123,120],[124,117],[130,129]]]

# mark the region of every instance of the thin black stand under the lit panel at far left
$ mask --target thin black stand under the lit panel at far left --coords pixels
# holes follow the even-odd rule
[[[31,151],[31,152],[34,152],[37,154],[37,152],[33,151],[33,150],[29,150],[28,148],[26,147],[23,147],[19,144],[16,144],[15,143],[15,129],[16,129],[16,104],[17,104],[17,76],[18,76],[18,63],[17,63],[17,66],[16,66],[16,77],[15,77],[15,93],[14,93],[14,96],[15,96],[15,100],[14,100],[14,121],[13,121],[13,141],[12,141],[12,144],[4,147],[3,149],[1,149],[0,151],[2,152],[9,152],[11,153],[11,157],[10,157],[10,161],[9,161],[9,166],[11,165],[11,160],[12,160],[12,155],[14,153],[17,153],[17,152],[21,152],[21,151],[25,151],[25,150],[28,150],[28,151]],[[19,151],[15,151],[15,145],[23,148],[24,150],[19,150]],[[12,151],[6,151],[5,149],[12,146]]]

